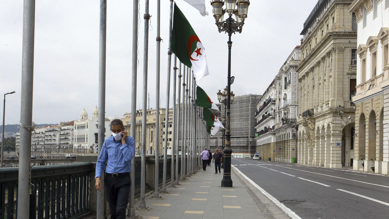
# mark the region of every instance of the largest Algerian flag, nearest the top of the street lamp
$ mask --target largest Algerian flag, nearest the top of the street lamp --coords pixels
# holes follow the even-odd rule
[[[193,70],[197,81],[209,75],[205,48],[176,4],[173,15],[172,52],[184,65]]]

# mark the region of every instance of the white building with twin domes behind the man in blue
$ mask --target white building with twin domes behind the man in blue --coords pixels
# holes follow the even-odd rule
[[[110,120],[105,118],[104,138],[111,136]],[[97,153],[98,141],[98,109],[93,109],[92,117],[88,118],[86,110],[82,110],[80,118],[74,121],[73,152]]]

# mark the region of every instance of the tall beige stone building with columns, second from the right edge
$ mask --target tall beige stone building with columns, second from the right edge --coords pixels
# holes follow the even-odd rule
[[[354,159],[357,31],[352,0],[319,0],[304,23],[298,72],[298,163],[341,168]],[[354,22],[353,22],[354,21]]]

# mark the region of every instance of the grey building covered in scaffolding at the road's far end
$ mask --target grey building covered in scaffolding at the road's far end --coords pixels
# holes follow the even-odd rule
[[[231,149],[233,157],[244,157],[253,155],[256,148],[255,135],[255,111],[261,95],[248,94],[235,96],[231,104]],[[219,119],[224,122],[224,104],[217,104],[221,116]],[[210,150],[216,148],[223,149],[223,129],[220,129],[215,136],[210,139]]]

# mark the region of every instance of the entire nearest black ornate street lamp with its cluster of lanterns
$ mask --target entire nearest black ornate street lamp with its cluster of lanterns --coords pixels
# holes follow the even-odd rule
[[[226,8],[223,9],[223,5]],[[230,131],[230,100],[231,100],[231,84],[233,83],[233,77],[231,78],[231,35],[236,32],[241,33],[244,25],[244,21],[247,18],[247,11],[249,9],[250,0],[213,0],[211,2],[214,12],[214,18],[219,33],[225,32],[228,34],[228,76],[227,76],[227,104],[226,104],[226,140],[224,148],[224,171],[223,180],[221,181],[222,187],[232,187],[231,180],[231,131]],[[228,14],[228,18],[224,21],[224,14]],[[233,18],[235,17],[235,20]]]

